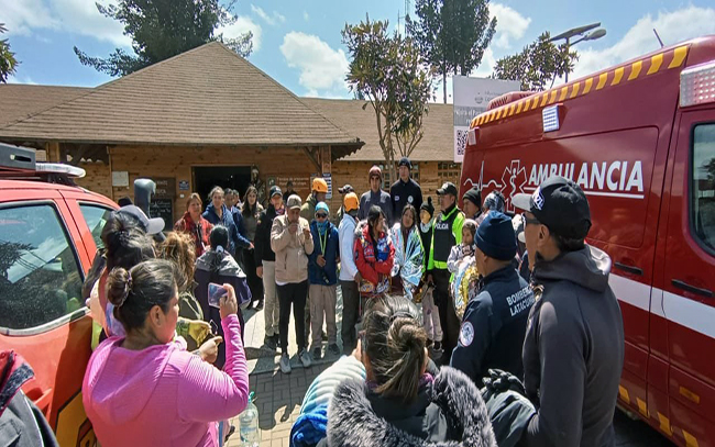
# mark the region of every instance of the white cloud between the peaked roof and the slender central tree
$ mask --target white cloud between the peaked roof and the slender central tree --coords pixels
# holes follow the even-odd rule
[[[350,63],[342,49],[332,49],[318,36],[292,31],[283,38],[280,53],[288,67],[300,70],[299,83],[308,96],[348,94]]]

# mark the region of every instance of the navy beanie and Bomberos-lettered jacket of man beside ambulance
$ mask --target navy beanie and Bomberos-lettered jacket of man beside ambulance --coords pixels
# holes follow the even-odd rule
[[[512,220],[491,212],[474,237],[479,250],[499,260],[514,259],[516,237]],[[521,377],[521,347],[534,293],[512,264],[491,272],[464,311],[451,366],[462,370],[477,387],[490,369]]]

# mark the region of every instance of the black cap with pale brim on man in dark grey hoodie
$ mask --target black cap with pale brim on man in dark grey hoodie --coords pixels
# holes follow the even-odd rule
[[[532,194],[515,194],[512,204],[532,213],[556,234],[583,239],[591,230],[588,199],[580,186],[563,177],[550,177]]]

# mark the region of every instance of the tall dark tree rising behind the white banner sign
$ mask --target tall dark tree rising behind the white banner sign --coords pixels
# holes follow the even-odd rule
[[[418,21],[406,18],[425,59],[442,77],[447,103],[447,76],[468,76],[482,63],[496,31],[490,20],[490,0],[417,0]]]

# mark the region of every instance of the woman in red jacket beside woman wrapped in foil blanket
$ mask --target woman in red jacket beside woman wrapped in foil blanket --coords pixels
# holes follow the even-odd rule
[[[360,294],[373,298],[389,291],[389,275],[395,261],[395,247],[386,232],[383,210],[373,205],[355,230],[355,266],[362,276]]]

